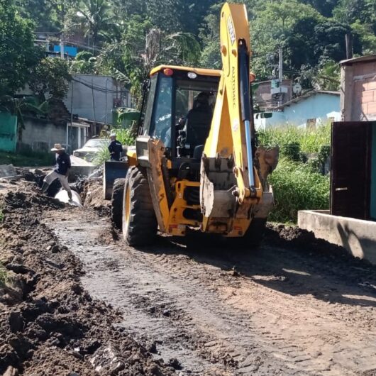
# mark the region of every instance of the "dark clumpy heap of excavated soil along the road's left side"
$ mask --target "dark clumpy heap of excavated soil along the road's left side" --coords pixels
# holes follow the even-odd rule
[[[118,312],[84,291],[81,263],[40,223],[43,211],[61,220],[81,209],[37,192],[9,192],[0,204],[0,374],[172,375],[116,328]]]

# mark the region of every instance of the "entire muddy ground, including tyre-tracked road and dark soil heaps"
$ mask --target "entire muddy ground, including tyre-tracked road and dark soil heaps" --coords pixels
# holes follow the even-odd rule
[[[284,226],[130,248],[91,194],[6,197],[0,374],[376,375],[375,266]]]

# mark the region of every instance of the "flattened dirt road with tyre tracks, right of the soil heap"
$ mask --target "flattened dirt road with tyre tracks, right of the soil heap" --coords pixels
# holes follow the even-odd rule
[[[376,268],[365,262],[304,243],[236,253],[161,237],[136,250],[93,211],[43,221],[82,261],[89,294],[177,375],[376,375]]]

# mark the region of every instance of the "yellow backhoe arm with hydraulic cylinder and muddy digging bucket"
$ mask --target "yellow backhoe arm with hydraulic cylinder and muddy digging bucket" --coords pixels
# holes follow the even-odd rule
[[[226,3],[221,10],[221,57],[223,73],[201,160],[202,229],[238,236],[262,199],[253,161],[250,35],[243,4]]]

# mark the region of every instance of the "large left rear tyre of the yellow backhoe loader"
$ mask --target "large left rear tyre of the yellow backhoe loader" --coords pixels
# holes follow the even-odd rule
[[[157,219],[146,170],[132,166],[126,175],[123,195],[123,238],[128,245],[150,245],[157,234]]]

